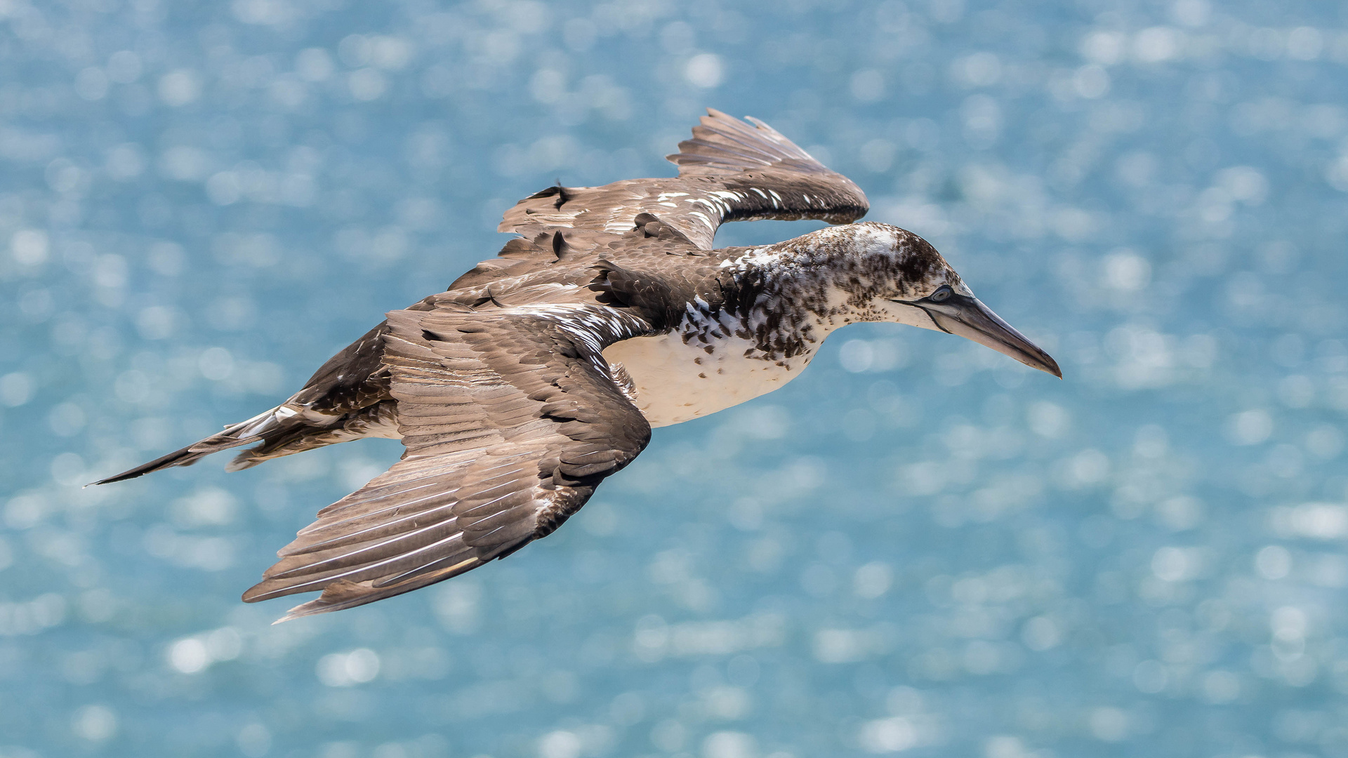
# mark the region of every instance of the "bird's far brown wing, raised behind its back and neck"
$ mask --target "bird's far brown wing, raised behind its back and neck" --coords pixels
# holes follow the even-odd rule
[[[869,209],[865,193],[830,171],[772,127],[752,125],[708,109],[669,159],[675,179],[627,179],[600,187],[547,187],[506,212],[499,232],[546,228],[625,233],[648,213],[694,245],[712,248],[727,221],[818,218],[856,221]]]

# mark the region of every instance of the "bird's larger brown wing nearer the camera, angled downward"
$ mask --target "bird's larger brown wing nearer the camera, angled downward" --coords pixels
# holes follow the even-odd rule
[[[244,600],[321,589],[286,619],[350,608],[551,533],[650,441],[600,355],[643,329],[594,305],[390,313],[403,460],[319,511]]]

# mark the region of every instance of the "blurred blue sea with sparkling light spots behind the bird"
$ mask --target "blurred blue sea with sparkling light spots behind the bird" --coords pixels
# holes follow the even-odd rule
[[[0,0],[0,755],[1348,755],[1344,8]],[[396,442],[80,488],[704,105],[1065,380],[853,326],[510,560],[275,627],[239,593]]]

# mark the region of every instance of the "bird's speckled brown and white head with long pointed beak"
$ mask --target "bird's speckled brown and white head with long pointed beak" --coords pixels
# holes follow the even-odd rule
[[[816,233],[833,237],[821,247],[833,251],[832,268],[838,275],[832,286],[855,320],[958,334],[1062,378],[1058,363],[973,297],[960,274],[922,237],[875,221]]]

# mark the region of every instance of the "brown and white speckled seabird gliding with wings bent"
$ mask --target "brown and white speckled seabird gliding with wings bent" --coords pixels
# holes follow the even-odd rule
[[[967,337],[1062,376],[913,232],[756,119],[708,109],[677,178],[551,186],[520,200],[491,260],[333,356],[282,405],[96,484],[228,448],[228,469],[361,437],[402,459],[318,511],[245,602],[321,591],[280,620],[352,608],[546,537],[635,459],[651,429],[801,374],[840,326],[892,321]],[[713,248],[717,227],[833,224]]]

